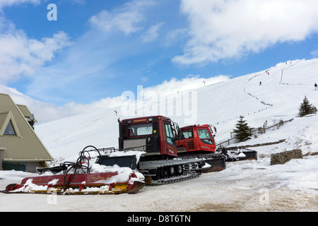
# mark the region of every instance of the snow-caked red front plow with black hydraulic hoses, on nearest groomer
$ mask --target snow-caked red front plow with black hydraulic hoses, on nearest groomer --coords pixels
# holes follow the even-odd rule
[[[93,148],[93,150],[86,150]],[[122,194],[136,193],[145,186],[144,177],[127,168],[105,169],[102,172],[91,172],[90,152],[100,151],[88,146],[80,153],[76,162],[64,162],[57,167],[39,168],[39,174],[49,175],[27,177],[20,184],[9,184],[6,194]],[[87,156],[88,155],[88,156]],[[100,158],[98,158],[99,160]],[[98,161],[97,160],[97,161]]]

